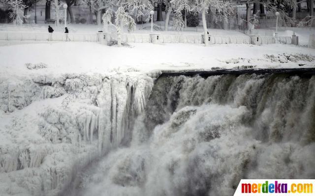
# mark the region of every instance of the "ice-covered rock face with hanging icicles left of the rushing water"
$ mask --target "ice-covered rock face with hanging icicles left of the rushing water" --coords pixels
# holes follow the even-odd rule
[[[59,195],[78,170],[131,141],[152,86],[140,73],[2,79],[0,195]]]

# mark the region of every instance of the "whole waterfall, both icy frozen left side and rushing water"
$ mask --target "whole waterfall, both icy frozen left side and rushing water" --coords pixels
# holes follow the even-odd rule
[[[315,76],[1,79],[0,195],[231,196],[315,178]]]

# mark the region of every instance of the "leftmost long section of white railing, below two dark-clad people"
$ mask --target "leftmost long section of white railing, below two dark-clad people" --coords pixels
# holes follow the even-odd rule
[[[15,41],[90,41],[97,42],[97,34],[88,33],[43,33],[0,31],[0,40]]]

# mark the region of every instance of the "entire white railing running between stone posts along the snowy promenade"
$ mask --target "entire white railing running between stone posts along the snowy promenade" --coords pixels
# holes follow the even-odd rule
[[[102,37],[102,36],[100,36]],[[110,34],[110,40],[117,40],[117,34]],[[291,44],[291,37],[259,36],[260,44]],[[251,44],[250,36],[210,36],[212,44]],[[122,43],[152,43],[150,34],[122,34]],[[201,35],[156,34],[157,43],[203,43]],[[91,33],[44,33],[0,31],[0,40],[33,41],[82,41],[97,42],[97,34]]]

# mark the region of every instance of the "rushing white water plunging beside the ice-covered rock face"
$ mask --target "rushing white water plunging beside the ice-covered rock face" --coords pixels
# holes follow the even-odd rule
[[[231,196],[244,178],[315,178],[315,77],[161,77],[130,146],[81,173],[81,196]]]

